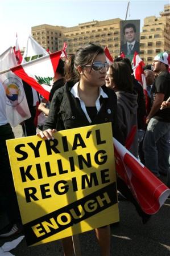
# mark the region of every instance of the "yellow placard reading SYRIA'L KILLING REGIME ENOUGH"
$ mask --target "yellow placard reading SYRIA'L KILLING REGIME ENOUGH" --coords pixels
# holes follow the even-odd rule
[[[111,124],[7,140],[27,245],[119,220]]]

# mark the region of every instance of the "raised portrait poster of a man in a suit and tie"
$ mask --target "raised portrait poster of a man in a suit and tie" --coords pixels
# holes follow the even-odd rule
[[[121,21],[121,53],[132,59],[135,51],[139,54],[140,46],[140,19]]]

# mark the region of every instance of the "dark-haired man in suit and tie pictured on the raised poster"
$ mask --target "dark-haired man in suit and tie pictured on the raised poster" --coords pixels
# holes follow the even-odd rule
[[[136,41],[136,26],[133,23],[126,23],[123,27],[123,35],[126,43],[121,45],[121,52],[125,55],[134,55],[135,51],[139,53],[139,42]]]

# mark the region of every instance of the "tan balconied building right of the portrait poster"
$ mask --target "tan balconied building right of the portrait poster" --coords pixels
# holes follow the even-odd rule
[[[145,63],[152,63],[161,51],[170,52],[170,5],[164,6],[160,17],[146,17],[140,33],[140,57]]]

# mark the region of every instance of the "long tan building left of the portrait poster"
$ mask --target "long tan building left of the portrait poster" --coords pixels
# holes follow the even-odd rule
[[[44,48],[51,52],[63,48],[67,43],[67,53],[73,54],[86,43],[98,43],[107,46],[115,57],[119,55],[120,48],[120,21],[121,19],[109,19],[107,21],[91,21],[80,23],[74,27],[59,27],[51,25],[39,25],[32,27],[32,36]]]

